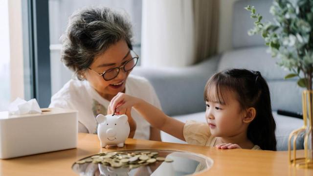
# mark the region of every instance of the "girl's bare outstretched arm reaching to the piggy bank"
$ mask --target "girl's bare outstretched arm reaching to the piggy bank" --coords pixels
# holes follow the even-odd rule
[[[184,123],[167,116],[142,99],[119,92],[112,98],[109,105],[111,111],[114,112],[115,110],[116,113],[131,107],[134,107],[153,127],[185,141],[183,136]]]

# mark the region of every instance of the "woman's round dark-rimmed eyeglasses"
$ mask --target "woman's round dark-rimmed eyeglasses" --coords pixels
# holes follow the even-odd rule
[[[103,73],[98,73],[95,70],[91,69],[90,67],[88,68],[92,70],[93,72],[97,73],[99,76],[102,76],[104,80],[110,81],[118,75],[121,68],[125,72],[127,72],[127,71],[132,70],[134,66],[136,66],[139,56],[133,50],[130,50],[129,54],[132,56],[132,59],[127,60],[122,66],[107,69]]]

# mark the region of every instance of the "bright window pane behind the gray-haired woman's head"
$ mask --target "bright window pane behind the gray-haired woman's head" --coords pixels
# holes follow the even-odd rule
[[[71,78],[72,73],[61,63],[61,35],[65,32],[68,17],[85,6],[107,6],[125,10],[134,30],[134,51],[140,56],[141,0],[49,0],[51,94],[56,93]]]

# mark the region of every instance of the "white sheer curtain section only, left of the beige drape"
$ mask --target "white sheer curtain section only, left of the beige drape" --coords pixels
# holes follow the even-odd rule
[[[141,66],[189,66],[195,57],[192,0],[143,0]]]

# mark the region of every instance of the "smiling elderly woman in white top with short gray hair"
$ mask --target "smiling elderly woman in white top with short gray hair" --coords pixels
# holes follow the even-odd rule
[[[110,101],[118,92],[142,98],[160,109],[151,84],[130,75],[139,59],[132,50],[132,36],[127,16],[110,8],[89,7],[70,17],[62,36],[61,60],[77,78],[52,96],[49,107],[78,110],[79,132],[97,132],[95,117],[107,114]],[[159,130],[135,110],[122,113],[129,117],[129,137],[161,140]]]

